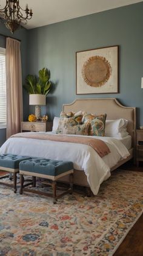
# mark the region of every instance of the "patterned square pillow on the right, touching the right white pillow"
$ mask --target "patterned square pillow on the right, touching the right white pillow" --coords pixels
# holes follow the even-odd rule
[[[94,114],[86,114],[82,118],[84,123],[90,123],[89,135],[91,136],[104,136],[105,134],[105,119],[106,114],[104,115],[94,115]]]

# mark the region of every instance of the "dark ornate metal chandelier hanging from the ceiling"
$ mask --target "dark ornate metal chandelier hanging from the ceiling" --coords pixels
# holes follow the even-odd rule
[[[22,12],[24,13],[24,16]],[[25,10],[19,6],[18,0],[6,0],[6,5],[3,9],[0,9],[0,16],[5,21],[5,26],[10,29],[12,34],[21,26],[21,23],[27,24],[27,20],[32,18],[32,9],[28,9],[28,4],[25,6]]]

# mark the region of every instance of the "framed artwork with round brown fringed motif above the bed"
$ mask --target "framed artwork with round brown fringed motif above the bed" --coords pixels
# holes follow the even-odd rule
[[[76,52],[76,94],[118,93],[119,46]]]

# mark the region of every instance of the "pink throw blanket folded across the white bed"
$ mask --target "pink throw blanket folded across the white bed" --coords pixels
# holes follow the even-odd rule
[[[78,136],[67,136],[67,135],[53,135],[47,133],[38,133],[38,132],[21,132],[16,133],[11,136],[11,138],[32,138],[38,140],[52,140],[52,141],[61,141],[69,143],[79,143],[91,146],[95,149],[100,157],[104,157],[110,153],[110,149],[104,141],[96,138],[87,138],[87,137],[78,137]]]

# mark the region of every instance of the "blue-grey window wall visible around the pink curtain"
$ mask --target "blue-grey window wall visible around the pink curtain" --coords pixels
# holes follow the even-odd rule
[[[0,34],[13,37],[21,40],[21,60],[22,60],[22,81],[24,81],[27,74],[27,30],[21,29],[11,34],[11,32],[5,28],[4,24],[0,24]],[[5,48],[5,37],[0,35],[0,47]],[[24,118],[28,115],[28,96],[25,91],[23,92],[23,105],[24,105]],[[0,129],[0,146],[6,140],[6,129]]]

